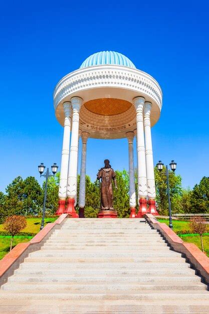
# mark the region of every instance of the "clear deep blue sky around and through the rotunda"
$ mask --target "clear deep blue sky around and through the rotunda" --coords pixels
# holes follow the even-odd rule
[[[208,1],[2,2],[0,190],[18,175],[38,179],[40,162],[60,166],[54,87],[103,50],[126,55],[162,87],[154,162],[174,159],[184,187],[208,176],[208,14]],[[128,169],[126,139],[90,139],[87,149],[92,179],[105,158]]]

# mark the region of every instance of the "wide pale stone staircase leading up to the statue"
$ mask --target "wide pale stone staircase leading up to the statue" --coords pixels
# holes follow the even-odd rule
[[[209,310],[206,285],[143,219],[66,219],[9,277],[0,300],[0,313],[10,300],[9,313]]]

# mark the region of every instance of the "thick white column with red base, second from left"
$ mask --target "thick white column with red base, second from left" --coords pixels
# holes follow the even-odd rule
[[[68,206],[66,213],[70,214],[73,218],[78,218],[78,214],[75,211],[75,198],[77,195],[77,167],[78,167],[78,138],[79,138],[79,111],[83,103],[82,98],[71,98],[71,104],[73,109],[72,117],[72,135],[70,145],[70,158],[68,168]]]

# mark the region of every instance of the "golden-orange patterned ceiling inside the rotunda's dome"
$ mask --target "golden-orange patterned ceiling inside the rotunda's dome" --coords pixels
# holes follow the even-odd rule
[[[129,101],[116,98],[99,98],[84,103],[87,110],[100,115],[117,115],[127,111],[131,105]]]

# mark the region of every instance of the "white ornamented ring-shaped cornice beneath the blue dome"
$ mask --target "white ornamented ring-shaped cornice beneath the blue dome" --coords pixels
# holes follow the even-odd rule
[[[97,87],[127,88],[147,95],[160,109],[162,106],[162,92],[152,76],[128,67],[102,65],[76,70],[63,77],[54,90],[54,107],[75,92]]]

